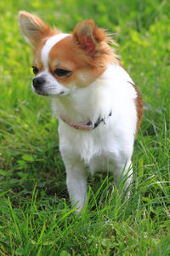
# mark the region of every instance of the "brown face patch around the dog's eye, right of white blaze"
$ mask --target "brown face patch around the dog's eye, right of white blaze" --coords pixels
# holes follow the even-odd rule
[[[49,52],[49,69],[61,84],[69,86],[74,81],[77,87],[87,87],[102,73],[106,67],[93,67],[89,65],[90,56],[85,55],[82,49],[77,51],[77,45],[70,35],[54,47]],[[71,75],[58,77],[54,74],[56,68],[66,69],[71,71]]]

